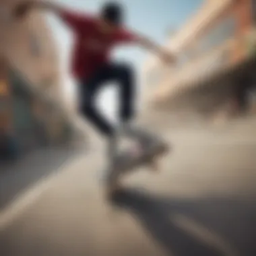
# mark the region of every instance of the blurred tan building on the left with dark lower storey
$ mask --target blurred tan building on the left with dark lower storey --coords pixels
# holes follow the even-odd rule
[[[15,3],[1,1],[0,8],[11,9]],[[59,143],[71,129],[61,109],[57,53],[40,13],[22,21],[0,19],[0,135],[15,137],[21,151]]]

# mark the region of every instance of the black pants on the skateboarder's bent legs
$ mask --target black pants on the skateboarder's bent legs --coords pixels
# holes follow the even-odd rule
[[[96,109],[96,96],[106,82],[117,82],[119,88],[119,117],[122,122],[130,121],[135,114],[134,74],[128,65],[109,63],[100,67],[89,79],[79,86],[80,112],[106,136],[115,132],[113,125]]]

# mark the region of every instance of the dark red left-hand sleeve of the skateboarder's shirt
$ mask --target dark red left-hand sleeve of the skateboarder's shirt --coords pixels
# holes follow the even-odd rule
[[[84,13],[78,13],[77,11],[63,10],[60,13],[62,20],[74,30],[79,30],[90,24],[92,18]]]

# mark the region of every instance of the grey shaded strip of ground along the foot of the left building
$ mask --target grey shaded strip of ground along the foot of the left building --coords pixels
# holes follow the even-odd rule
[[[69,162],[75,150],[44,148],[0,166],[0,210],[34,183],[57,172]]]

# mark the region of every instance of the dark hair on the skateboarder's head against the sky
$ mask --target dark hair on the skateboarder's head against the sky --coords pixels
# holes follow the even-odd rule
[[[101,9],[100,15],[110,23],[119,25],[123,23],[123,8],[116,2],[105,3]]]

